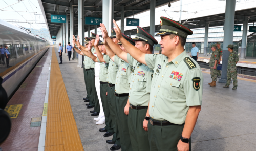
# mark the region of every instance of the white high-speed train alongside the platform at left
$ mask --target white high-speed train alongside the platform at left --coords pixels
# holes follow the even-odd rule
[[[49,49],[49,42],[44,38],[33,35],[29,30],[7,23],[0,19],[0,49],[8,46],[10,52],[9,68],[0,57],[0,76],[2,86],[8,97],[13,94],[19,84],[26,78],[37,62]],[[3,63],[5,62],[5,64]]]

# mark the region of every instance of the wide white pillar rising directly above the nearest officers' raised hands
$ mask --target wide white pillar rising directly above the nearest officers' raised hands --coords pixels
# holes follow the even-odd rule
[[[104,0],[102,1],[102,22],[106,27],[106,30],[111,35],[111,23],[112,23],[112,0]]]

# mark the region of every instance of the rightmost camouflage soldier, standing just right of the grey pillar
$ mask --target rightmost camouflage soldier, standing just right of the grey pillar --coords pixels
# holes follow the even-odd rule
[[[229,88],[231,78],[233,79],[233,90],[236,90],[238,87],[238,74],[237,74],[237,62],[239,61],[238,54],[236,51],[233,51],[233,45],[227,46],[228,51],[230,52],[228,56],[228,63],[227,63],[227,83],[224,88]]]

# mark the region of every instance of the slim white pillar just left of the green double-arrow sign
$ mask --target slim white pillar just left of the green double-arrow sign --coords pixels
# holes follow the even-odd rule
[[[83,0],[78,0],[78,35],[80,37],[80,44],[82,46],[84,46],[84,21],[83,21],[83,17],[84,17],[84,1]],[[82,56],[78,55],[78,65],[77,67],[82,67]]]

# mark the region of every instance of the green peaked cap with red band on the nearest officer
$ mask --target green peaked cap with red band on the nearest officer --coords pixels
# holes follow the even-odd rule
[[[175,34],[183,38],[187,38],[187,35],[192,35],[193,31],[177,21],[166,17],[160,17],[160,32],[156,36]]]

